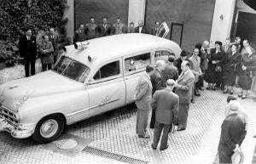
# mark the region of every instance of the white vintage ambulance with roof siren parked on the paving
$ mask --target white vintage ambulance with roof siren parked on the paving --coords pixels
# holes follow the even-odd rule
[[[38,143],[66,125],[133,103],[147,65],[178,55],[177,43],[148,34],[120,34],[67,46],[53,70],[0,86],[0,130]]]

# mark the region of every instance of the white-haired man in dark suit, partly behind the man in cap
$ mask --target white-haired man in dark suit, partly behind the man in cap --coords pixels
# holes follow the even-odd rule
[[[162,75],[162,71],[165,68],[165,61],[164,60],[157,60],[155,62],[155,69],[152,76],[150,76],[150,80],[152,83],[152,94],[154,94],[155,91],[166,88],[166,80],[164,76]],[[150,128],[154,128],[154,122],[155,122],[155,116],[154,116],[154,110],[152,110],[151,115],[151,121],[150,121]]]

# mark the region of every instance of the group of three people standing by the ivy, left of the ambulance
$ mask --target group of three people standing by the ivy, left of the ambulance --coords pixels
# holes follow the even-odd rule
[[[41,42],[32,35],[32,29],[27,28],[25,32],[19,41],[20,57],[25,61],[25,75],[35,75],[35,63],[38,57],[41,59],[42,71],[51,70],[59,53],[59,36],[55,29],[50,28],[49,33],[42,36]]]

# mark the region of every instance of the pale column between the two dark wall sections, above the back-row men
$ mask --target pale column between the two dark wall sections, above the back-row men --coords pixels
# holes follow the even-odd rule
[[[137,22],[139,20],[144,21],[145,8],[146,0],[129,0],[129,13],[127,25],[129,26],[130,22],[133,21],[134,25],[137,26]]]

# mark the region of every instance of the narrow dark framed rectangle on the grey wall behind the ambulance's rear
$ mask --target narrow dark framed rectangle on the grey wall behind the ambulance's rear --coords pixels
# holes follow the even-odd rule
[[[170,40],[177,42],[181,47],[183,41],[183,24],[172,23]]]

